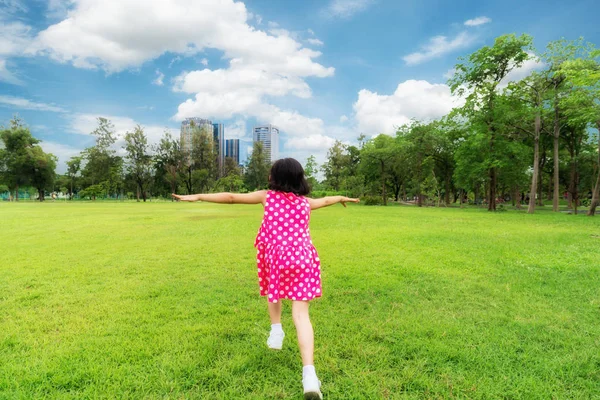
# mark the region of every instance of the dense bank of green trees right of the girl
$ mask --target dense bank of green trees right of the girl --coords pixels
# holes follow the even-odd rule
[[[526,61],[538,71],[508,82]],[[386,204],[526,202],[533,213],[561,194],[595,213],[600,190],[600,52],[582,39],[537,54],[528,35],[504,35],[462,59],[449,85],[464,104],[438,121],[413,121],[395,137],[336,142],[323,184]],[[470,199],[470,200],[468,200]],[[372,200],[372,199],[371,199]],[[378,201],[378,200],[373,200]]]

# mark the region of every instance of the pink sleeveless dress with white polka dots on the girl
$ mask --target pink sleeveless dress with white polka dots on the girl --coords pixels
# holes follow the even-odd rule
[[[321,297],[321,262],[310,239],[310,204],[303,196],[269,190],[256,235],[260,295],[280,299]]]

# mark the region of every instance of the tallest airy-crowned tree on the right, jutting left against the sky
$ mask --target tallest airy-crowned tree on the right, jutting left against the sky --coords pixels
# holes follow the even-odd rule
[[[488,210],[496,210],[499,109],[496,101],[498,87],[514,68],[530,58],[532,38],[514,34],[498,37],[494,46],[484,46],[471,54],[464,63],[455,66],[456,73],[450,79],[453,94],[466,95],[460,113],[473,122],[473,127],[487,135],[489,147],[485,164],[488,170]]]

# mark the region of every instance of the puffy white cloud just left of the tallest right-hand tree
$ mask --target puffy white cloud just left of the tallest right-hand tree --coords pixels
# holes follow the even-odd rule
[[[367,89],[358,92],[354,103],[357,130],[365,134],[394,133],[411,119],[433,120],[461,105],[444,84],[422,80],[402,82],[392,95],[379,95]]]

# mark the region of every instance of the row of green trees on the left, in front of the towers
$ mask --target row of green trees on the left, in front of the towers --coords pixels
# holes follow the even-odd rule
[[[119,146],[114,125],[106,118],[98,118],[91,134],[95,144],[71,157],[66,173],[57,175],[57,158],[44,153],[40,140],[15,117],[9,127],[0,128],[0,193],[9,191],[18,200],[20,189],[34,187],[40,201],[49,192],[70,199],[77,194],[92,200],[126,196],[146,201],[150,196],[170,198],[174,192],[246,191],[267,184],[270,165],[261,143],[255,143],[244,168],[226,158],[221,169],[212,130],[204,126],[192,125],[189,148],[168,131],[150,145],[139,125],[125,133]]]

